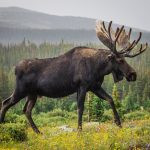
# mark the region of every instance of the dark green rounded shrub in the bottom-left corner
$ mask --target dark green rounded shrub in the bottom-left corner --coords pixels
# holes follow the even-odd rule
[[[27,139],[26,128],[22,124],[0,124],[0,141],[24,141]]]

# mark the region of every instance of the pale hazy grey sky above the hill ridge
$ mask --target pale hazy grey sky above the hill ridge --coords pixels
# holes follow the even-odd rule
[[[0,0],[0,7],[19,6],[61,16],[83,16],[150,31],[150,0]]]

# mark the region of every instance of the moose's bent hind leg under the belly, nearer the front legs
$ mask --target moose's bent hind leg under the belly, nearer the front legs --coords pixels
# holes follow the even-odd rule
[[[37,128],[37,126],[35,125],[32,117],[31,117],[32,109],[36,103],[36,100],[37,100],[37,96],[28,96],[27,102],[23,108],[23,112],[25,113],[33,131],[36,133],[40,133],[39,129]]]

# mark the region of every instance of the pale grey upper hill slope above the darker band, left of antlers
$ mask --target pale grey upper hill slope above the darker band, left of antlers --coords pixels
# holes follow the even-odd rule
[[[55,16],[18,7],[0,8],[0,27],[31,29],[93,29],[95,19]]]

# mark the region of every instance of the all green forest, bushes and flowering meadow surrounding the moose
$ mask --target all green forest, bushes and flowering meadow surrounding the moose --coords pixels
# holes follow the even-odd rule
[[[14,66],[21,59],[55,57],[75,46],[63,41],[36,45],[26,40],[17,45],[0,44],[0,103],[14,89]],[[86,46],[100,48],[100,45]],[[113,124],[109,104],[99,101],[98,97],[89,92],[82,133],[76,131],[76,95],[71,95],[57,100],[46,97],[38,99],[33,119],[43,134],[36,135],[22,114],[25,104],[25,100],[22,100],[8,111],[7,123],[0,125],[0,149],[146,149],[150,144],[149,49],[144,54],[127,60],[137,71],[136,82],[123,80],[114,84],[109,75],[103,83],[104,89],[114,98],[123,122],[122,129]],[[68,125],[73,131],[61,130],[59,127],[62,125]]]

